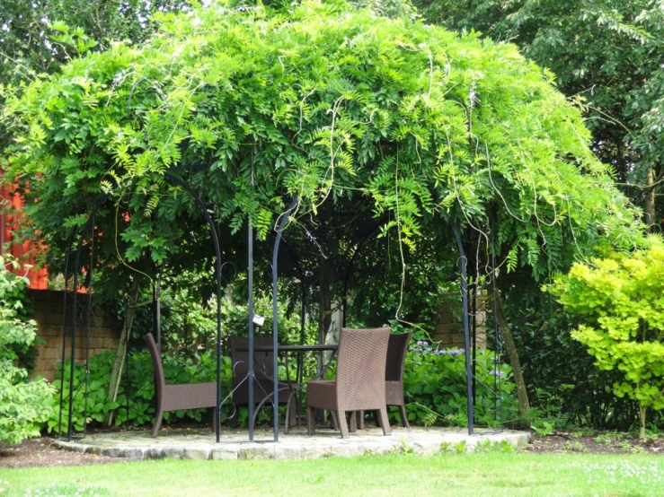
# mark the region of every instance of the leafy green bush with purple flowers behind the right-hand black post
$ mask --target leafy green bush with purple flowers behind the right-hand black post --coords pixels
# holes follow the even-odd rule
[[[503,418],[508,420],[517,411],[516,400],[510,395],[515,388],[511,368],[495,364],[491,351],[477,351],[475,422],[478,424],[500,423],[498,397],[489,389],[497,388],[499,377]],[[467,425],[464,350],[434,350],[423,341],[412,345],[403,371],[403,397],[409,421]]]

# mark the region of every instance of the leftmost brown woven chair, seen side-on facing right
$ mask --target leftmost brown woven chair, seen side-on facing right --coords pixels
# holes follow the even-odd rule
[[[205,407],[214,407],[215,411],[217,410],[217,383],[166,385],[162,356],[156,350],[155,338],[153,338],[152,333],[148,333],[143,339],[146,341],[147,350],[150,351],[152,363],[155,366],[156,414],[155,425],[152,427],[153,438],[159,432],[166,412]],[[216,419],[217,413],[215,412],[212,417],[213,428]]]

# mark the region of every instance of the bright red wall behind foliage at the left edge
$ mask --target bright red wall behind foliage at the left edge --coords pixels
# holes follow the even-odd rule
[[[6,251],[18,259],[21,267],[16,272],[28,277],[29,288],[46,290],[49,288],[49,270],[46,267],[34,269],[34,256],[42,248],[29,241],[19,243],[13,239],[13,231],[18,229],[22,219],[22,207],[22,198],[13,193],[12,187],[0,186],[0,254]]]

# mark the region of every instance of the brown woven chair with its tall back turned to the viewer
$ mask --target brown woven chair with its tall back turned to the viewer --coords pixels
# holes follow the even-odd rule
[[[391,434],[385,406],[385,360],[389,338],[388,327],[341,328],[337,378],[333,381],[313,380],[306,384],[309,435],[315,433],[316,408],[336,414],[343,439],[349,437],[346,414],[361,410],[377,411],[383,434]]]

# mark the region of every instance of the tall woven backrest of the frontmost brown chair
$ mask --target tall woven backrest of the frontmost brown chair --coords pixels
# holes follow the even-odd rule
[[[346,410],[385,406],[385,362],[390,328],[341,328],[337,397]]]

